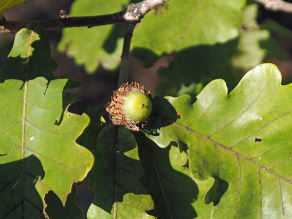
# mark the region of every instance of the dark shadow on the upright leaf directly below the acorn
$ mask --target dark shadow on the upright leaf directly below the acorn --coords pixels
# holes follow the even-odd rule
[[[135,204],[140,203],[137,195],[148,195],[139,182],[143,169],[137,160],[138,152],[136,157],[134,152],[133,158],[128,156],[136,146],[135,138],[127,128],[109,125],[98,134],[88,186],[95,192],[92,204],[99,209],[112,213],[114,203],[127,205],[124,196],[128,193],[136,200]]]

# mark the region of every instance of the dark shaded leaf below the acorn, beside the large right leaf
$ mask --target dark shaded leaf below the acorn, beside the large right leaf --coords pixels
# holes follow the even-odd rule
[[[155,208],[148,214],[164,219],[196,218],[197,213],[191,203],[198,199],[198,186],[189,176],[171,166],[170,146],[161,148],[145,134],[134,134],[144,169],[139,181],[155,203]]]

